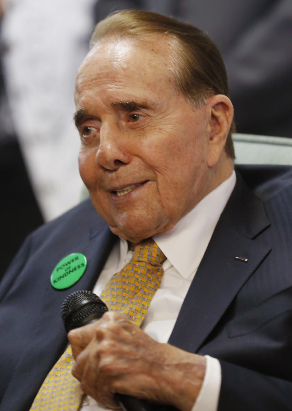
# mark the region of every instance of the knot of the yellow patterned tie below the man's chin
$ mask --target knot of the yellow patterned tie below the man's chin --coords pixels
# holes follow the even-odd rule
[[[136,244],[132,257],[132,261],[145,261],[152,266],[160,266],[165,259],[166,256],[152,238]]]

